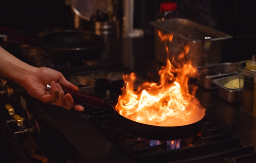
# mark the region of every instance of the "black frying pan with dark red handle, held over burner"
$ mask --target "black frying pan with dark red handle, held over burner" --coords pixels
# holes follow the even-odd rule
[[[103,99],[99,97],[66,88],[62,89],[65,94],[70,93],[72,95],[75,103],[113,111],[115,121],[120,125],[120,127],[122,127],[122,129],[138,137],[151,140],[178,140],[194,136],[201,130],[205,121],[203,117],[201,120],[195,123],[183,126],[147,125],[123,117],[114,109],[113,105],[104,102]],[[116,100],[114,105],[116,105],[117,102],[118,101]]]

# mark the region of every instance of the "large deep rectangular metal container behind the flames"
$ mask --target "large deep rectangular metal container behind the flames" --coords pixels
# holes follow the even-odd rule
[[[179,55],[184,47],[189,45],[188,55],[194,65],[204,66],[206,63],[220,63],[224,40],[232,38],[228,34],[187,19],[155,21],[151,22],[151,25],[155,30],[156,59],[163,63],[167,58],[166,45],[170,55]],[[161,41],[159,31],[162,35],[173,33],[172,41]]]

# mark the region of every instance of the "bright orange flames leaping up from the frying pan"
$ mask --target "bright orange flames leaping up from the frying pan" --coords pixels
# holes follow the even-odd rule
[[[173,39],[173,34],[163,35],[160,31],[158,34],[165,43]],[[168,47],[166,49],[168,52]],[[191,60],[186,59],[188,52],[187,45],[184,52],[178,55],[177,68],[167,59],[166,66],[159,71],[159,83],[144,82],[134,90],[135,74],[123,75],[126,84],[121,89],[122,96],[118,98],[116,111],[133,121],[158,126],[188,125],[202,119],[205,109],[194,97],[198,87],[192,86],[193,90],[189,93],[189,78],[197,77],[198,72]]]

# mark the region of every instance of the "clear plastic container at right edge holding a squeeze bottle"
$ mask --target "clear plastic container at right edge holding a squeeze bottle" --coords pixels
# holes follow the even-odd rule
[[[237,68],[239,84],[243,90],[240,93],[241,109],[256,117],[256,73],[245,69],[246,62],[232,63],[231,66]]]

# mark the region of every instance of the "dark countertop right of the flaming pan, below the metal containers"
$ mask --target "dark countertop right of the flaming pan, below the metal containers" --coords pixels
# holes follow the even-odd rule
[[[227,133],[241,139],[244,146],[256,148],[256,118],[241,111],[240,103],[228,103],[218,96],[218,89],[206,90],[199,88],[196,96],[206,108],[206,117],[216,127],[224,128]]]

